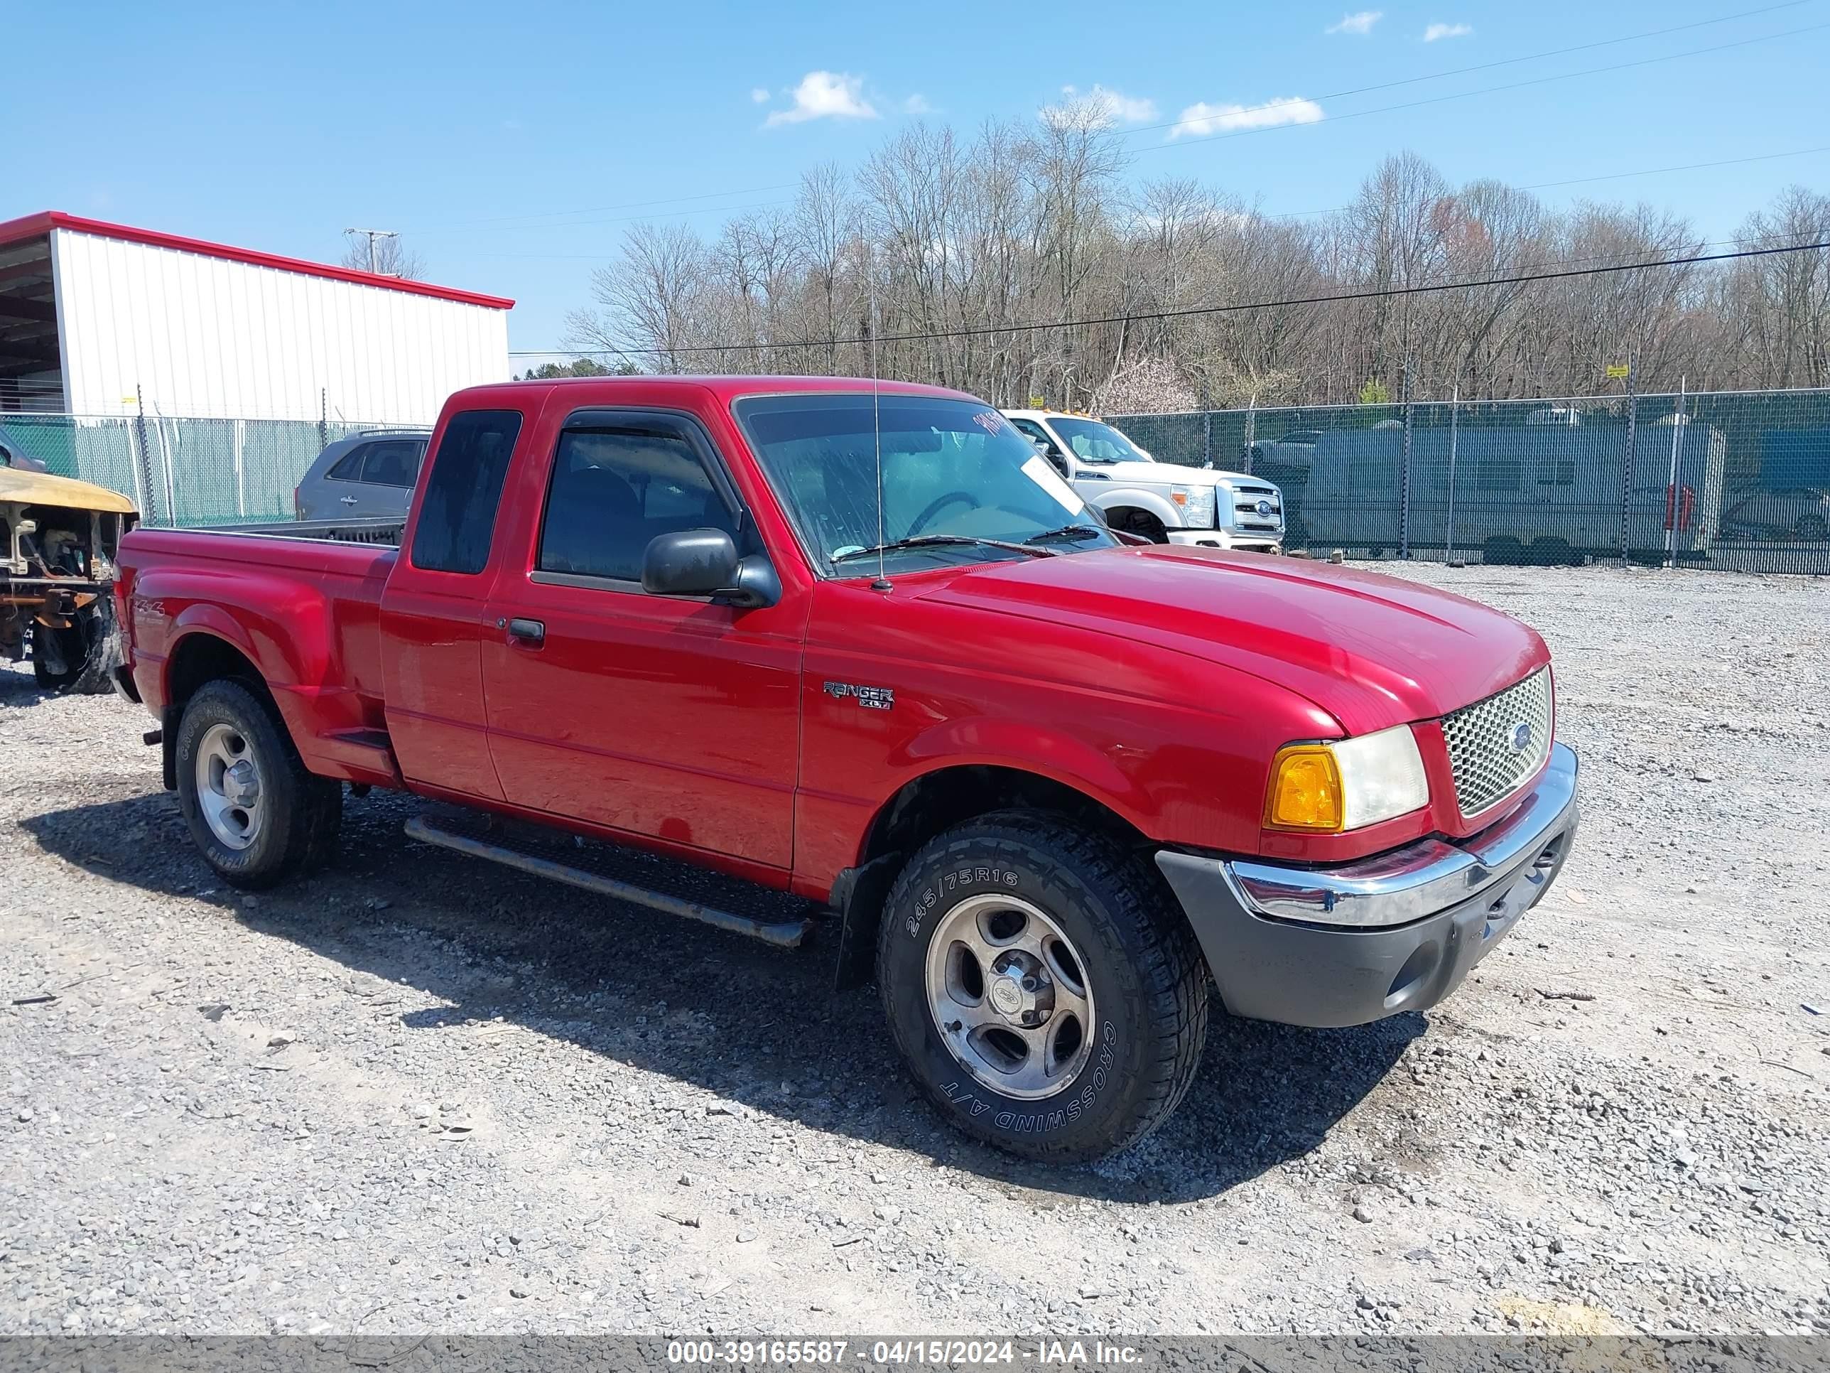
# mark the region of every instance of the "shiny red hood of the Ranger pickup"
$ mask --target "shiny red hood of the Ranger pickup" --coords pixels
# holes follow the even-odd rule
[[[974,568],[930,600],[1078,626],[1286,686],[1347,734],[1433,719],[1550,661],[1510,615],[1396,577],[1199,547]]]

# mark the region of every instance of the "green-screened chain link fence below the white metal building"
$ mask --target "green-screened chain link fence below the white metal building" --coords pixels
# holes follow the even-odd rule
[[[0,441],[57,476],[132,496],[148,525],[291,520],[328,443],[368,428],[315,419],[0,414]]]

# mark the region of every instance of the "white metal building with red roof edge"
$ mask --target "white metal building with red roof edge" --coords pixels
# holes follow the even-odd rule
[[[0,412],[430,423],[512,304],[44,211],[0,223]]]

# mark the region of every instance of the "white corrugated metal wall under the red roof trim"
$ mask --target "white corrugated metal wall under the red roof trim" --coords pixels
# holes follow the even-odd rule
[[[430,423],[507,381],[509,311],[53,231],[73,414]],[[322,399],[320,399],[322,397]]]

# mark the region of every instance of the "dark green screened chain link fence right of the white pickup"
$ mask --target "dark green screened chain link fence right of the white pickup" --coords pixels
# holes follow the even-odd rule
[[[1107,416],[1283,489],[1286,547],[1830,573],[1830,392]]]

